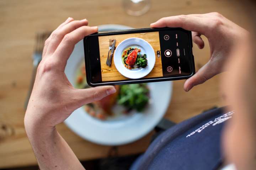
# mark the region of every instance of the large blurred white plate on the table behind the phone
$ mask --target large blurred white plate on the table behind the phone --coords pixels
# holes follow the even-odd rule
[[[104,29],[101,29],[104,28]],[[130,27],[111,25],[99,26],[99,30],[130,29]],[[70,83],[75,85],[77,67],[84,62],[84,46],[82,40],[75,45],[65,74]],[[154,129],[164,116],[172,95],[172,82],[164,81],[148,83],[150,103],[143,113],[123,115],[122,118],[101,121],[92,118],[83,108],[76,109],[64,123],[82,138],[101,145],[122,145],[142,138]]]

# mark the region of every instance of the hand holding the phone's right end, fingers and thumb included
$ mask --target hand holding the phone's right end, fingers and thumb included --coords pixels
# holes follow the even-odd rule
[[[193,42],[203,49],[204,41],[201,35],[208,38],[210,45],[210,60],[196,74],[187,79],[184,90],[189,91],[193,86],[223,72],[223,65],[231,55],[235,45],[247,39],[248,32],[229,21],[217,12],[206,14],[180,15],[161,18],[150,27],[181,27],[192,31]]]

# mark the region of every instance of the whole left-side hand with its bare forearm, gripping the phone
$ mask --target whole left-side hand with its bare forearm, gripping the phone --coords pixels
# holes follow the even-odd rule
[[[87,25],[86,19],[68,18],[45,41],[24,118],[28,138],[43,170],[84,170],[55,125],[75,109],[116,92],[113,86],[75,89],[65,75],[66,62],[75,44],[98,31],[97,27]]]

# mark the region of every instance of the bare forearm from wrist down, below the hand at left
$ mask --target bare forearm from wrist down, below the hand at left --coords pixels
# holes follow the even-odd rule
[[[55,128],[30,130],[27,135],[41,170],[84,170],[78,158]]]

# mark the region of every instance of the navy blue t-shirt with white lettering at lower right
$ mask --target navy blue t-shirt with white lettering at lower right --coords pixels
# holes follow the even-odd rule
[[[222,163],[220,137],[234,112],[217,108],[173,126],[159,135],[131,170],[215,170]]]

